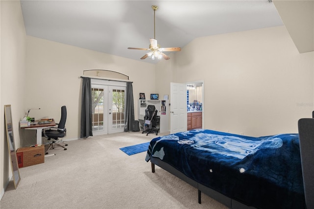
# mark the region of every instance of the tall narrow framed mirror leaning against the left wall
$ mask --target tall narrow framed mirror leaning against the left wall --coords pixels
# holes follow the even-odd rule
[[[16,189],[18,187],[21,177],[20,177],[18,159],[16,157],[15,144],[14,144],[11,104],[4,105],[4,119],[5,119],[5,128],[6,128],[6,138],[8,141],[9,156],[10,156],[11,168],[12,168],[12,174],[13,174],[13,182],[14,182],[14,187]]]

